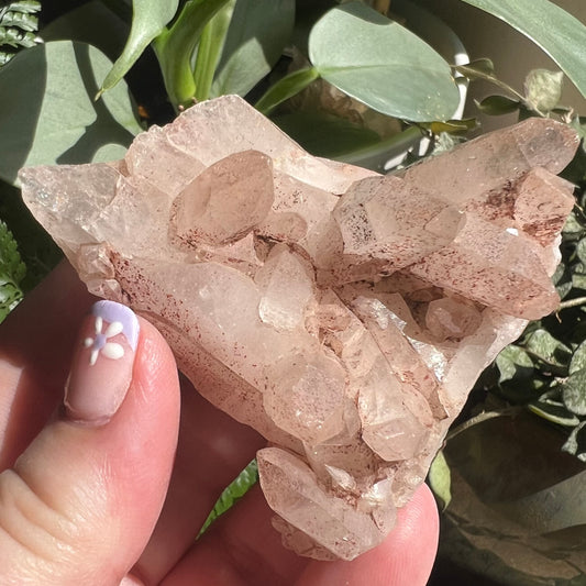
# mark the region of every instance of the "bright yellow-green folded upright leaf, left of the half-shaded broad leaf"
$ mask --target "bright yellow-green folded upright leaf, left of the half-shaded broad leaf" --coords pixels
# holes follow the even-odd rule
[[[228,2],[229,0],[188,0],[173,26],[161,33],[153,44],[167,93],[176,108],[188,108],[194,103],[194,54],[204,27]]]

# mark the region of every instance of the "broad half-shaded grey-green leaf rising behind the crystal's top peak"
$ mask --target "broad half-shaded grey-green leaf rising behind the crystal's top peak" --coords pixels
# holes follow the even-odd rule
[[[210,96],[248,93],[280,57],[294,22],[295,0],[239,0]]]

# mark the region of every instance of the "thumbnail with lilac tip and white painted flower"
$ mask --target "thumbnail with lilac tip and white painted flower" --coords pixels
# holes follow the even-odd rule
[[[114,301],[98,301],[82,325],[65,407],[71,419],[106,422],[122,405],[132,380],[139,343],[134,312]]]

